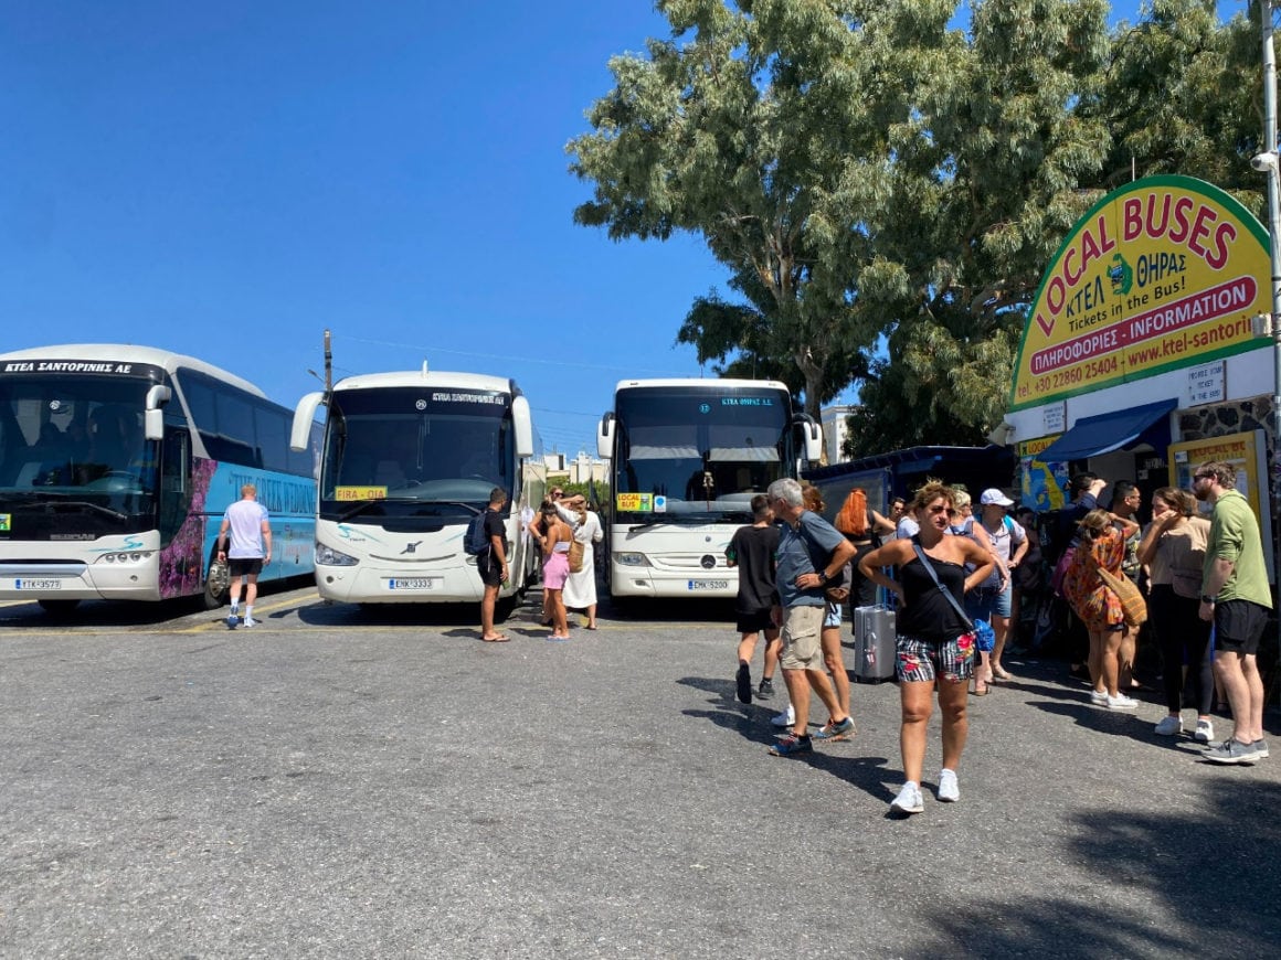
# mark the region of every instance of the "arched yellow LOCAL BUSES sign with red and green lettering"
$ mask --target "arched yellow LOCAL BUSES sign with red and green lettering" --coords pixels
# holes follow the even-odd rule
[[[1041,278],[1009,408],[1258,347],[1271,269],[1263,224],[1217,187],[1150,177],[1113,191]]]

